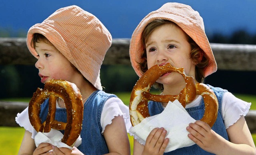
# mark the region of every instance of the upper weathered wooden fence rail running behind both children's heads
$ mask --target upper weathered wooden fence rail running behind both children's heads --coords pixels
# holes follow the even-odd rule
[[[113,39],[106,53],[104,65],[131,65],[130,39]],[[218,69],[256,71],[256,45],[210,43]],[[26,46],[26,38],[0,38],[0,65],[34,65],[34,58]]]

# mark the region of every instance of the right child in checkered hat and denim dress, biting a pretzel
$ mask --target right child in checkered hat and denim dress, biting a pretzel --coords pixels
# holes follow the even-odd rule
[[[216,61],[204,32],[203,20],[190,6],[179,3],[166,3],[148,14],[136,27],[130,42],[132,67],[141,77],[153,65],[184,67],[185,73],[195,82],[217,70]],[[210,86],[210,85],[208,85]],[[162,95],[176,95],[185,87],[179,73],[166,73],[154,85]],[[140,154],[256,154],[244,116],[250,103],[233,96],[227,90],[210,86],[218,98],[218,118],[212,128],[200,119],[204,114],[202,96],[186,104],[186,111],[198,120],[188,124],[188,137],[196,144],[164,153],[168,141],[164,128],[153,129],[146,139],[145,146],[134,140],[134,155]],[[160,114],[167,103],[150,101],[150,116]]]

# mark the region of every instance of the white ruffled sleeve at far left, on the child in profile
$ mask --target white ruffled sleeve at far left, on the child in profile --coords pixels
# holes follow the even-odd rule
[[[26,109],[24,109],[21,113],[18,113],[15,120],[16,120],[17,124],[19,124],[25,130],[31,132],[32,133],[31,138],[34,139],[37,132],[30,124],[30,121],[28,118],[28,107]]]

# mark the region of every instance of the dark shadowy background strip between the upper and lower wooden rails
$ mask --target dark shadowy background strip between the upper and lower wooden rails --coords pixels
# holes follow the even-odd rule
[[[138,76],[131,66],[103,65],[100,72],[106,92],[131,92]],[[255,71],[222,71],[206,77],[205,83],[232,93],[256,94]],[[38,69],[27,65],[0,65],[0,98],[32,97],[36,88],[44,88]]]

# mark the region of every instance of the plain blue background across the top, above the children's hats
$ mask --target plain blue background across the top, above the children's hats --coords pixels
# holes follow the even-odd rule
[[[0,0],[0,28],[24,30],[55,10],[78,5],[94,14],[113,38],[130,38],[139,22],[166,2],[192,6],[204,19],[206,33],[256,33],[256,0]]]

